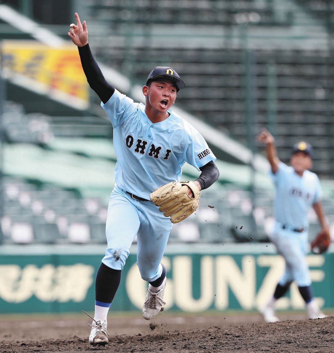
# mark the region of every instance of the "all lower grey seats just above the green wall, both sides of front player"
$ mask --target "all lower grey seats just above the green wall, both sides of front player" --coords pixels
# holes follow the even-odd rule
[[[2,243],[106,244],[106,201],[18,177],[4,177],[3,185]],[[220,192],[210,189],[203,192],[195,215],[174,225],[169,241],[221,244],[268,241],[274,221],[273,192],[255,190],[254,207],[251,195],[232,184]],[[334,225],[333,198],[325,197],[323,207],[329,224]],[[314,212],[310,220],[311,240],[319,229]]]

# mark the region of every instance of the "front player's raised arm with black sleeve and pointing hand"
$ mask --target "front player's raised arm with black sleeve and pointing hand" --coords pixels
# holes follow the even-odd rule
[[[113,95],[115,88],[104,78],[99,65],[88,44],[88,30],[86,21],[81,24],[79,15],[74,14],[77,24],[70,24],[70,31],[67,33],[72,42],[78,47],[81,65],[86,75],[89,86],[96,92],[103,103],[107,103]]]

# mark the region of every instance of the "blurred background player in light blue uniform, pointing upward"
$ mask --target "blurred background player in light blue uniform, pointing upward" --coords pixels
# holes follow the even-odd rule
[[[288,290],[292,281],[298,285],[311,319],[326,317],[318,308],[311,291],[311,278],[306,252],[308,246],[308,212],[314,208],[322,232],[329,237],[329,228],[321,204],[321,187],[312,167],[312,147],[308,143],[299,142],[294,145],[290,164],[282,163],[276,155],[274,137],[266,129],[257,136],[259,142],[266,144],[266,154],[271,166],[270,175],[275,183],[274,201],[275,226],[270,240],[277,251],[285,259],[285,272],[276,286],[273,297],[266,306],[260,308],[266,322],[275,322],[276,300]]]

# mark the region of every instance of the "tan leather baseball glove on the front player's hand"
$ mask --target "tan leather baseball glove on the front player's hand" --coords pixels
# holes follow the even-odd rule
[[[193,198],[187,194],[188,187],[194,195]],[[193,181],[172,181],[151,192],[150,199],[159,206],[165,217],[171,217],[172,223],[178,223],[196,211],[200,195]]]

